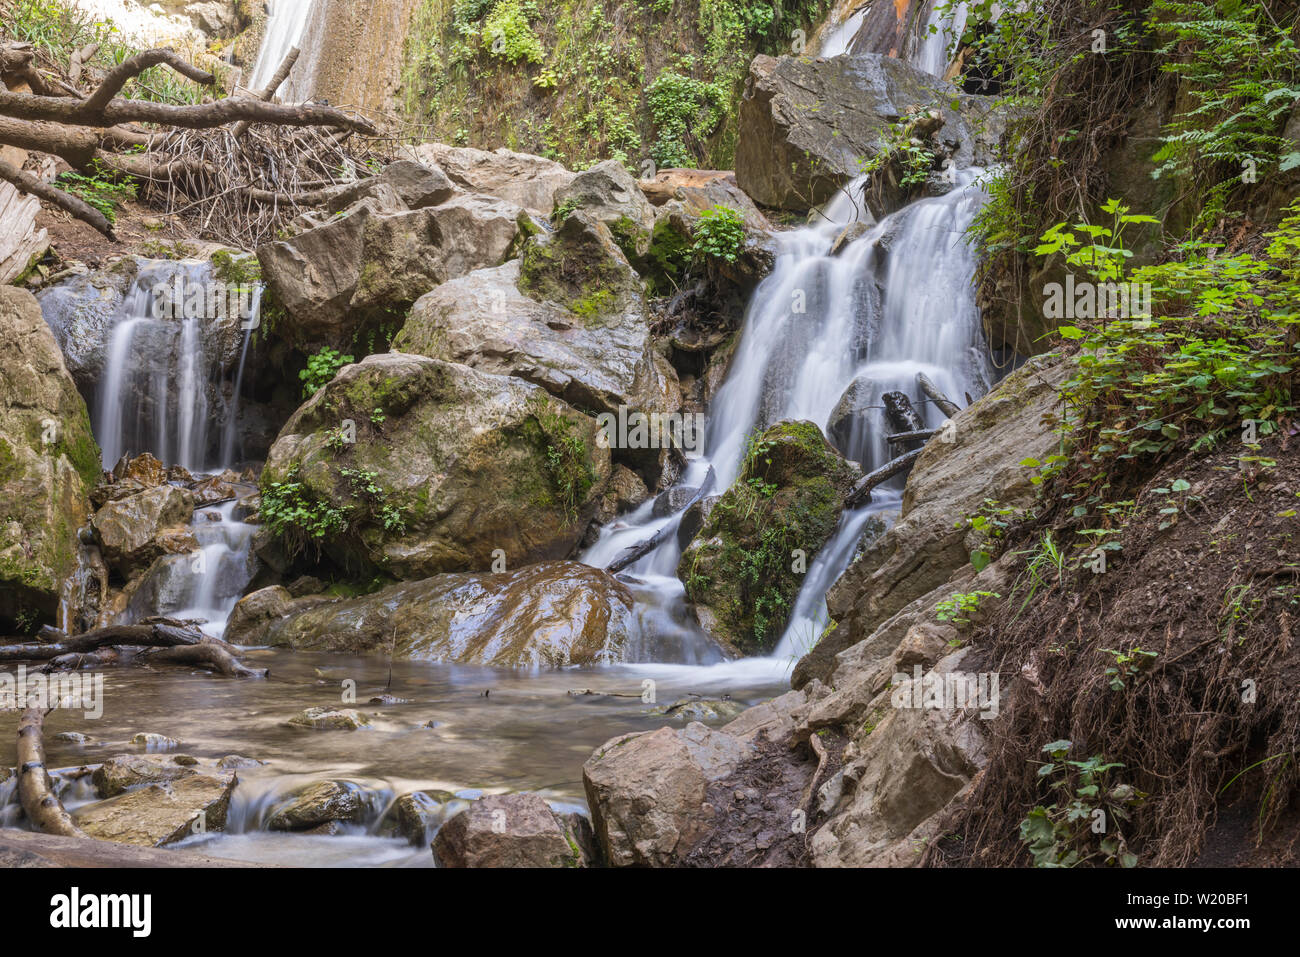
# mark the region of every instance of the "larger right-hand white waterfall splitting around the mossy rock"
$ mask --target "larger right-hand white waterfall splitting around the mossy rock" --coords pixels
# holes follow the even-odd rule
[[[712,469],[716,492],[725,490],[757,429],[806,419],[824,432],[841,395],[855,384],[867,408],[842,451],[863,471],[892,458],[879,408],[884,393],[906,394],[935,428],[944,415],[920,393],[918,373],[958,402],[988,391],[994,373],[974,298],[975,254],[966,241],[984,200],[979,174],[962,170],[946,195],[887,216],[835,254],[841,233],[868,218],[861,179],[841,190],[811,225],[776,235],[776,263],[754,291],[727,380],[708,410],[706,451],[688,459],[682,485],[698,488]],[[890,480],[872,503],[841,518],[809,568],[775,657],[806,650],[820,635],[827,589],[852,562],[870,520],[897,508],[902,485],[902,477]],[[628,572],[640,589],[659,593],[662,609],[680,609],[681,550],[672,533],[680,519],[680,512],[654,518],[647,502],[603,529],[582,560],[606,567],[625,547],[667,531],[659,547]]]

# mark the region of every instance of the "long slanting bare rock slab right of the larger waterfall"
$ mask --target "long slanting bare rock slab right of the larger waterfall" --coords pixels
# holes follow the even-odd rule
[[[907,478],[898,521],[827,596],[836,628],[796,667],[796,687],[811,677],[827,680],[835,654],[970,562],[963,519],[985,498],[1010,507],[1031,499],[1031,472],[1019,463],[1041,460],[1058,443],[1050,413],[1067,374],[1067,363],[1035,359],[953,417],[954,442],[926,445]]]

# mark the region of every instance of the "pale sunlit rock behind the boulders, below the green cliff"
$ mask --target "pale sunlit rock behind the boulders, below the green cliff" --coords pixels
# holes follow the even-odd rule
[[[555,208],[555,192],[573,179],[573,173],[555,160],[504,148],[488,152],[421,143],[411,148],[411,155],[420,163],[437,165],[464,190],[486,192],[542,218]]]

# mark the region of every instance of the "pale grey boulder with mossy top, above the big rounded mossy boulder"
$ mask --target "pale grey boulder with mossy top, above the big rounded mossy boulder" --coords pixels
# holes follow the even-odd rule
[[[676,374],[653,350],[636,273],[608,231],[573,215],[550,246],[421,296],[393,347],[515,376],[597,412],[675,411]],[[546,296],[551,287],[542,276],[556,261],[552,252],[571,276],[590,263],[590,291],[578,280],[572,298]]]

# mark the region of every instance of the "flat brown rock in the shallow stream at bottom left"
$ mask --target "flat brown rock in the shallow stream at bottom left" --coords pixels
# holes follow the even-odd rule
[[[100,840],[162,846],[200,831],[222,830],[234,787],[233,776],[191,772],[82,807],[73,813],[73,822]]]

